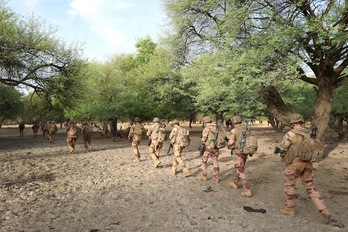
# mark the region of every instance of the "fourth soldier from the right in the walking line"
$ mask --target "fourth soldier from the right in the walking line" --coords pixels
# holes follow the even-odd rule
[[[181,134],[179,133],[179,131],[180,131],[179,121],[173,120],[172,127],[173,127],[173,129],[169,135],[169,140],[170,140],[170,143],[173,145],[173,151],[174,151],[172,174],[173,175],[176,174],[176,167],[178,165],[180,165],[181,169],[183,170],[184,177],[188,177],[191,174],[190,174],[188,168],[186,167],[184,161],[181,158],[181,153],[182,153],[183,147],[181,147],[178,143],[178,140],[179,140],[178,137],[181,136]]]

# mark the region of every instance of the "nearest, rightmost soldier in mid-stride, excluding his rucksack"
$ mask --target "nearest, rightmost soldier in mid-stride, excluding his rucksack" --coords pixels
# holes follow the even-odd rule
[[[309,134],[310,131],[303,127],[304,119],[299,114],[290,116],[290,125],[293,130]],[[331,214],[326,208],[323,199],[313,184],[313,164],[311,161],[302,161],[299,156],[302,136],[293,131],[287,132],[280,145],[280,153],[284,155],[286,160],[286,168],[284,172],[285,183],[285,208],[280,210],[280,214],[294,217],[295,213],[295,190],[296,180],[301,179],[302,184],[306,188],[306,192],[312,199],[317,210],[324,218],[324,223],[328,224],[331,220]]]

